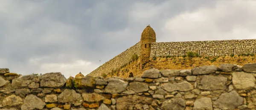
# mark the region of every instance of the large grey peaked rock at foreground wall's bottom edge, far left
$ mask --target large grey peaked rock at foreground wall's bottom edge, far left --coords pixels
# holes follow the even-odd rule
[[[24,99],[24,103],[21,105],[21,110],[33,110],[33,109],[43,109],[45,102],[33,94],[29,94]]]

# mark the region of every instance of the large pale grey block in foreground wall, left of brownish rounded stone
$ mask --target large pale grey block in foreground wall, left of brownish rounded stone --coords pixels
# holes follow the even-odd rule
[[[110,78],[108,80],[108,85],[105,87],[106,93],[120,93],[122,91],[125,91],[125,88],[127,87],[128,82],[125,82],[123,80]]]

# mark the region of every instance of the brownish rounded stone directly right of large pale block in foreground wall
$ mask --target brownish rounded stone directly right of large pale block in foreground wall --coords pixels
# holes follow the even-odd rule
[[[136,93],[148,91],[148,84],[144,82],[131,82],[129,89],[135,91]]]

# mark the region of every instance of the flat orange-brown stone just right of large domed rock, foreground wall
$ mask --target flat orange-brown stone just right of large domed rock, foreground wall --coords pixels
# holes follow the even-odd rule
[[[101,100],[106,99],[106,97],[98,93],[82,93],[82,97],[84,98],[84,101],[87,102],[99,102]]]

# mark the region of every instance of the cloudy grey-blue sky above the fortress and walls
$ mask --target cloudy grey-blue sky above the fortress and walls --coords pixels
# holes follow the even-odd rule
[[[157,42],[253,39],[255,19],[256,0],[0,0],[0,68],[86,75],[148,24]]]

